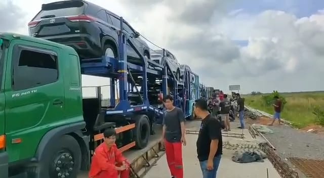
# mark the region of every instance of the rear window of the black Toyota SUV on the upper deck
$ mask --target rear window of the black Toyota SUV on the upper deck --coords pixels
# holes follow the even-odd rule
[[[42,18],[64,17],[64,16],[76,16],[84,13],[85,5],[83,2],[66,1],[55,2],[45,4],[42,6],[41,12],[39,12],[33,19],[39,20]]]

